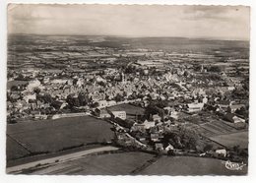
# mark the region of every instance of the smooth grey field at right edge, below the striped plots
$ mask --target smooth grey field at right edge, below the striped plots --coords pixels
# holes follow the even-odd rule
[[[248,148],[248,132],[237,132],[233,134],[220,135],[210,138],[211,140],[224,145],[224,147],[232,148],[239,146],[242,149]]]

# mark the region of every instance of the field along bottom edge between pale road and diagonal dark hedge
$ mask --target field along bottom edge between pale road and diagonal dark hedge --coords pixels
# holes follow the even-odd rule
[[[128,175],[153,158],[150,153],[121,152],[85,157],[38,169],[32,174]]]

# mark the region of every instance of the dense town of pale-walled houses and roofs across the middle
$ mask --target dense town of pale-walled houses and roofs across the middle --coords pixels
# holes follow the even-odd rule
[[[90,73],[77,73],[73,70],[51,73],[36,69],[23,70],[19,74],[12,72],[9,82],[19,80],[21,75],[28,82],[8,89],[8,114],[15,115],[16,118],[26,118],[43,113],[45,118],[46,113],[58,113],[67,107],[67,97],[70,94],[77,99],[80,93],[85,93],[87,97],[86,104],[82,104],[87,105],[87,109],[104,108],[134,100],[139,100],[142,107],[147,107],[151,100],[162,100],[172,102],[171,106],[178,101],[181,109],[196,112],[202,110],[209,99],[216,100],[212,93],[221,92],[224,95],[225,92],[241,88],[242,85],[241,81],[233,81],[226,75],[221,81],[205,80],[198,77],[206,72],[204,69],[195,72],[191,64],[175,65],[168,60],[139,60],[129,63],[127,67],[133,67],[134,71],[125,73],[125,69],[108,68],[103,72]],[[161,70],[162,67],[164,70]],[[158,69],[157,74],[152,74]],[[224,86],[224,83],[227,83],[227,86]],[[50,95],[50,99],[38,99],[38,95]],[[80,105],[76,107],[81,107]],[[223,108],[223,105],[220,105],[220,108]],[[50,112],[41,109],[48,109]],[[172,107],[171,115],[174,118],[175,112],[178,112],[178,109],[174,110]],[[27,115],[29,113],[30,115]],[[237,118],[234,119],[237,121]]]

